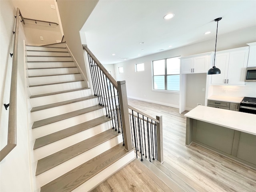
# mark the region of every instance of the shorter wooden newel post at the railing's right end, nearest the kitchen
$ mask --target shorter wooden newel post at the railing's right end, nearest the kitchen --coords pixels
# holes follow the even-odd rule
[[[162,163],[164,162],[164,151],[163,151],[163,119],[162,116],[156,116],[159,123],[156,123],[156,136],[157,136],[157,160]]]

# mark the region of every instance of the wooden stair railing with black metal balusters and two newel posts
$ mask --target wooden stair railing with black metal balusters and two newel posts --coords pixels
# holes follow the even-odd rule
[[[163,162],[162,116],[156,118],[128,105],[125,81],[114,80],[106,68],[83,45],[88,55],[94,96],[98,104],[106,108],[106,116],[111,118],[112,128],[123,134],[123,145],[130,151],[135,148],[136,157],[140,153],[145,158]]]

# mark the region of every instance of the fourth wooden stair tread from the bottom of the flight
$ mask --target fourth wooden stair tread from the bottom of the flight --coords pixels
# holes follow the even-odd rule
[[[88,112],[91,112],[91,111],[94,111],[94,110],[102,109],[102,108],[103,107],[100,106],[100,105],[95,105],[95,106],[87,107],[87,108],[84,108],[84,109],[68,112],[68,113],[65,113],[65,114],[53,116],[53,117],[50,117],[50,118],[38,120],[38,121],[35,121],[33,123],[32,129],[40,127],[40,126],[44,126],[44,125],[47,125],[47,124],[50,124],[50,123],[54,123],[54,122],[57,122],[57,121],[61,121],[61,120],[67,119],[67,118],[71,118],[71,117],[74,117],[74,116],[78,116],[78,115],[81,115],[81,114],[84,114],[84,113],[88,113]]]

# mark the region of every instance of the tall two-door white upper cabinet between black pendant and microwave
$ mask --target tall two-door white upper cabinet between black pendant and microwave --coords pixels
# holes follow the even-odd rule
[[[216,52],[215,66],[221,74],[212,75],[212,84],[243,85],[248,47]]]

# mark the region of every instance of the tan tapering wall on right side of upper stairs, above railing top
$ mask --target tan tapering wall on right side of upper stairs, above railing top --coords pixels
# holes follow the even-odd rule
[[[82,43],[85,44],[85,42],[81,42],[80,29],[86,22],[87,18],[90,16],[97,3],[98,0],[57,1],[66,43],[85,75],[87,75],[87,72],[85,66],[84,50],[82,49]],[[84,37],[82,37],[82,39],[84,40]],[[88,76],[85,78],[88,80]]]

